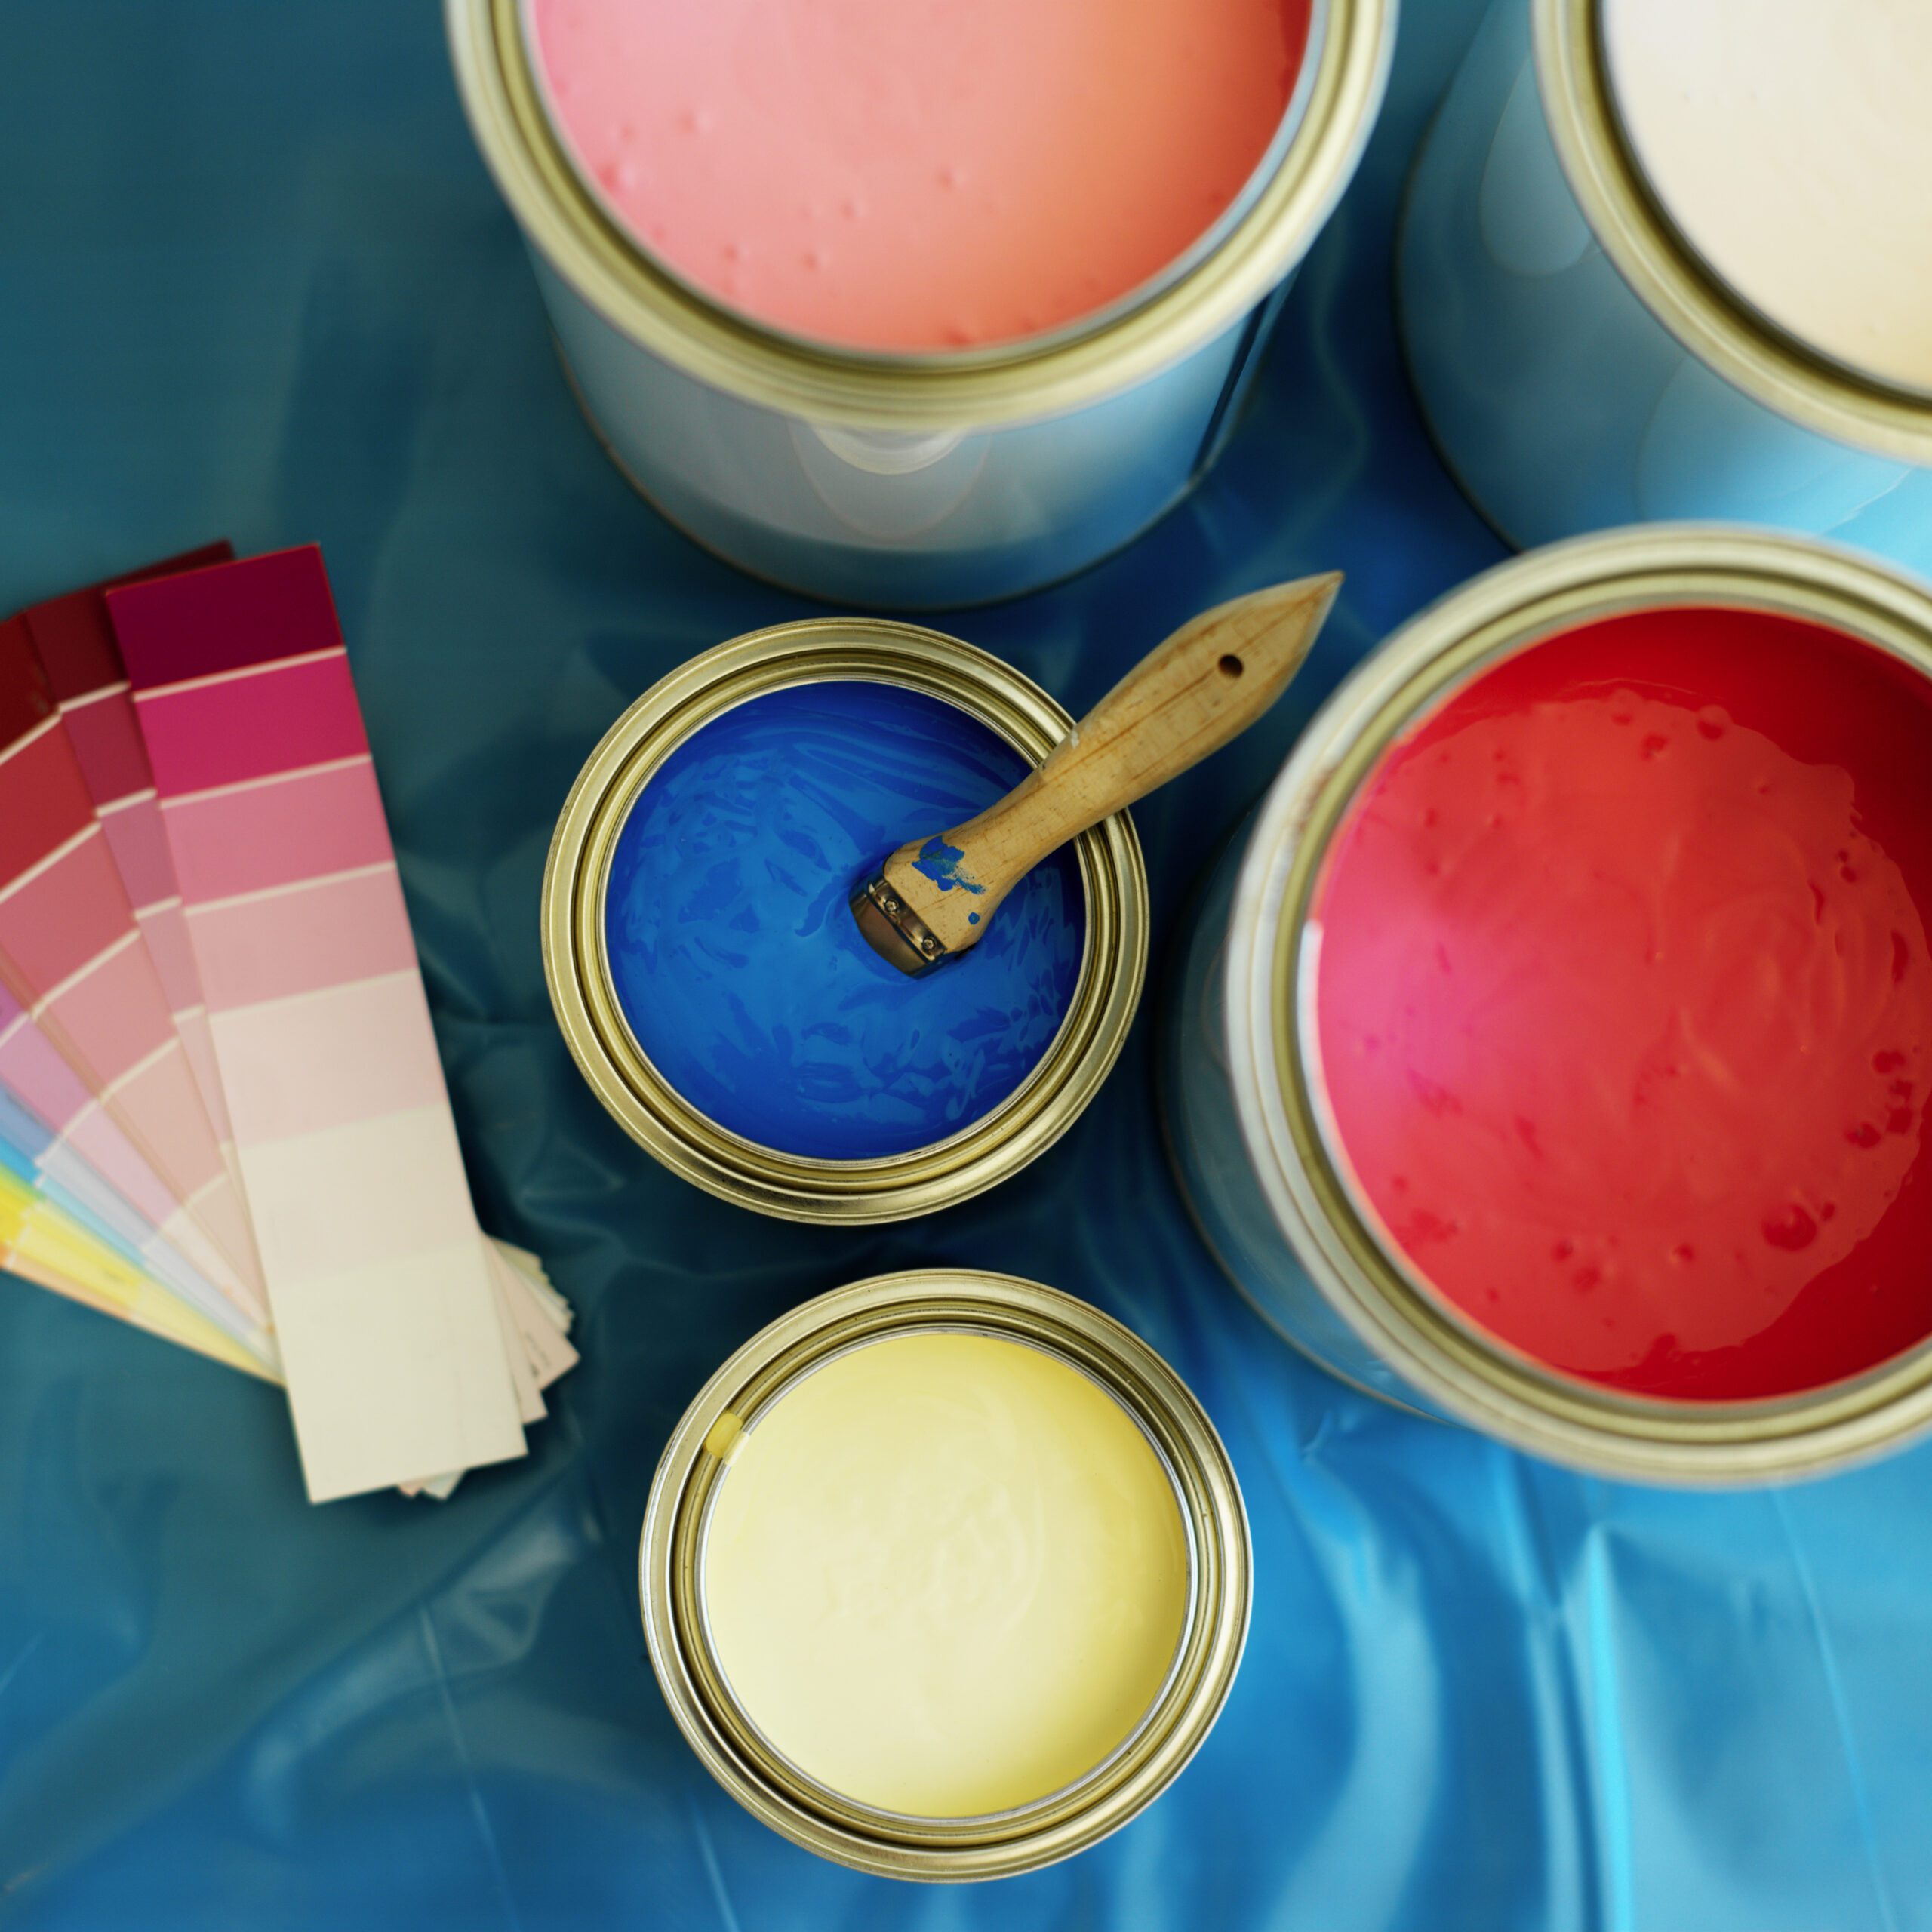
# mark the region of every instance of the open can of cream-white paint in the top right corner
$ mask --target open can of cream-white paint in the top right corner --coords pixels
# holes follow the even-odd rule
[[[1847,305],[1874,267],[1924,278],[1922,216],[1886,214],[1924,185],[1888,174],[1878,126],[1922,124],[1924,75],[1833,83],[1853,12],[1915,14],[1490,6],[1416,160],[1397,292],[1428,425],[1507,541],[1716,516],[1932,568],[1932,317],[1903,327],[1911,290]],[[1801,17],[1816,60],[1791,54]],[[1812,118],[1833,102],[1841,133]],[[1888,298],[1899,327],[1868,334]]]

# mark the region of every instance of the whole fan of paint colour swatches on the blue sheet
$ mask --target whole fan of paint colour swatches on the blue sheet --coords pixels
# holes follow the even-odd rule
[[[475,1221],[313,547],[0,626],[0,1265],[286,1381],[313,1501],[520,1457],[576,1360]]]

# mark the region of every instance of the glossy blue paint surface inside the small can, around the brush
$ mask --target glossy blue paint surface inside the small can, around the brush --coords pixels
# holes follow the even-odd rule
[[[987,726],[893,684],[800,684],[713,719],[643,788],[611,856],[605,943],[638,1045],[699,1113],[782,1153],[877,1159],[983,1119],[1072,999],[1072,852],[922,980],[866,945],[846,898],[908,838],[1024,775]]]

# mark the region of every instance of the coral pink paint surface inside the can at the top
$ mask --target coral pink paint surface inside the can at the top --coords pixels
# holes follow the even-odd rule
[[[1281,126],[1310,0],[527,0],[583,174],[792,334],[1010,342],[1182,255]]]

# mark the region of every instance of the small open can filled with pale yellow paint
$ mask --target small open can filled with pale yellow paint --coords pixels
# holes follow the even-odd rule
[[[746,1810],[866,1872],[999,1878],[1119,1830],[1200,1747],[1248,1522],[1208,1416],[1117,1321],[1009,1275],[883,1275],[705,1383],[639,1596]]]

